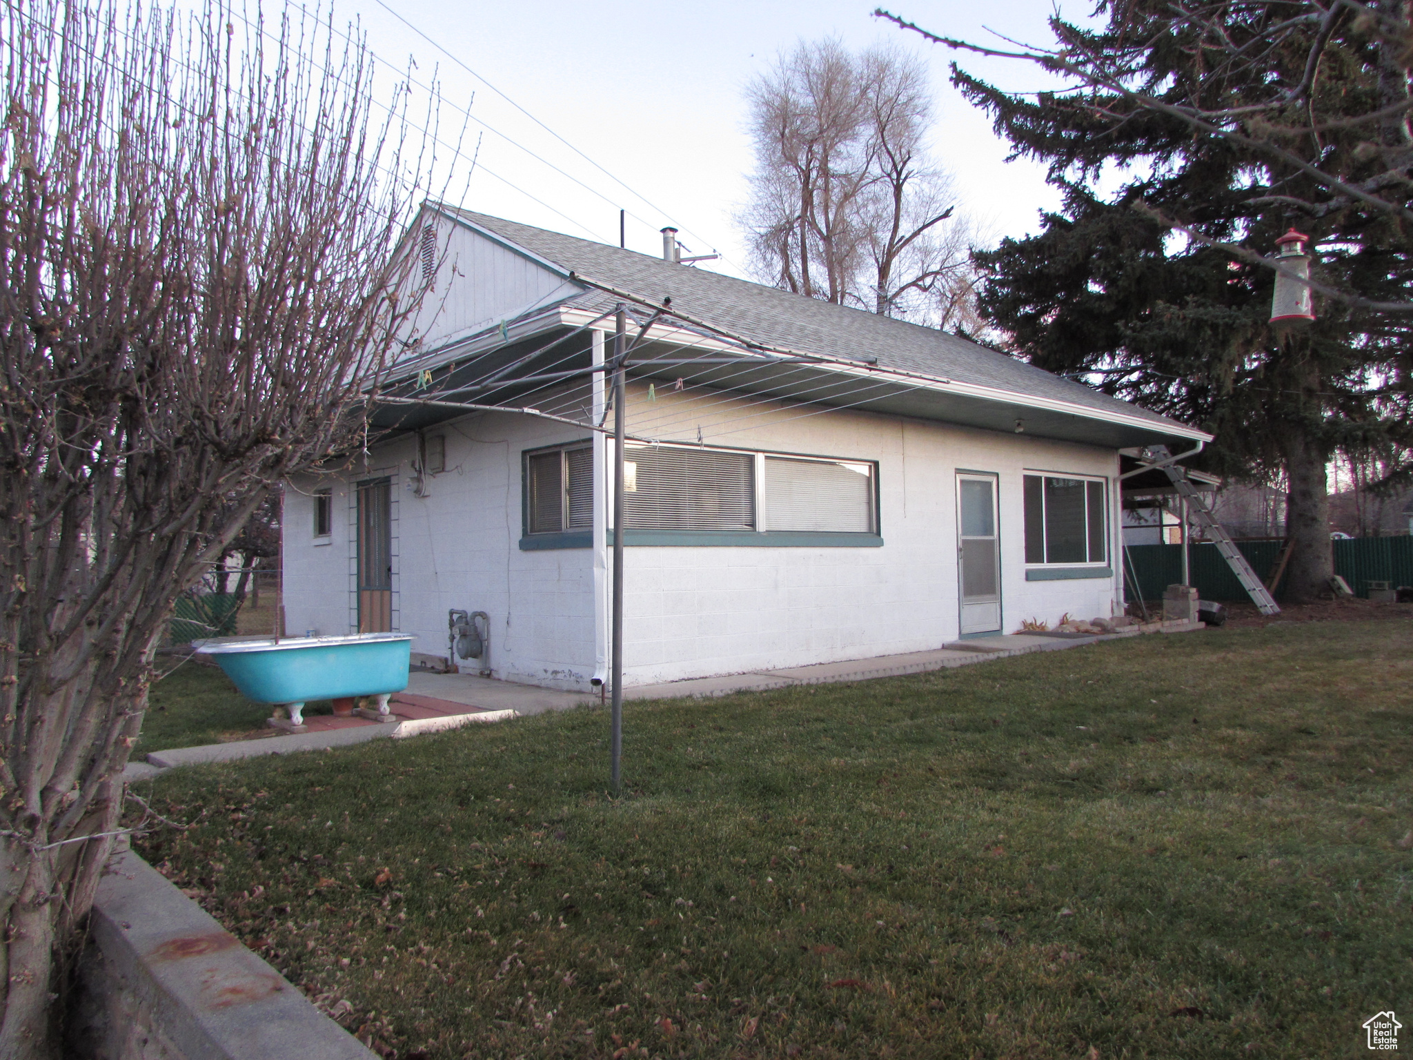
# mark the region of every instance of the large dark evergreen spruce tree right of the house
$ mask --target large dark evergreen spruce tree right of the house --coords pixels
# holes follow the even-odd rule
[[[1331,457],[1413,442],[1413,315],[1369,305],[1409,301],[1413,184],[1405,168],[1402,185],[1379,181],[1381,202],[1368,204],[1328,179],[1359,185],[1386,171],[1390,153],[1407,157],[1406,110],[1368,139],[1368,116],[1407,99],[1407,52],[1390,73],[1383,41],[1349,8],[1318,49],[1308,92],[1293,93],[1277,120],[1266,106],[1234,122],[1239,136],[1207,134],[1161,106],[1269,105],[1273,86],[1301,82],[1321,24],[1291,31],[1294,7],[1228,4],[1194,23],[1167,0],[1136,0],[1109,7],[1102,30],[1053,23],[1068,55],[1104,57],[1121,83],[1015,96],[957,68],[954,81],[1019,155],[1048,163],[1065,192],[1039,235],[978,254],[989,273],[982,312],[1033,363],[1214,431],[1205,466],[1248,478],[1283,471],[1294,543],[1286,598],[1307,601],[1332,574]],[[1214,20],[1224,55],[1259,61],[1215,62]],[[1283,47],[1258,47],[1277,37]],[[1104,81],[1113,90],[1095,86]],[[1123,90],[1135,86],[1159,106]],[[1115,172],[1122,187],[1101,194],[1101,174]],[[1313,237],[1317,283],[1356,297],[1317,287],[1316,324],[1280,335],[1267,324],[1275,273],[1253,259],[1291,226]]]

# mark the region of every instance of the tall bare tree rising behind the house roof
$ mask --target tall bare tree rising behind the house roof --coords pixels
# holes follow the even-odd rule
[[[894,49],[803,42],[749,89],[743,215],[760,274],[811,298],[933,319],[969,269],[951,188],[924,148],[926,69]]]

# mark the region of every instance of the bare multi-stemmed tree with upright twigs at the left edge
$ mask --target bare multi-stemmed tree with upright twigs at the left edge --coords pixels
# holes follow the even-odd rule
[[[411,308],[391,252],[421,155],[331,28],[0,11],[4,1057],[52,1054],[174,599],[357,442]]]

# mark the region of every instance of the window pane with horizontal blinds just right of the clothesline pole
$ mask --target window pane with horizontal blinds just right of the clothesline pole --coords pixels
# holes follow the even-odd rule
[[[623,496],[629,530],[756,529],[753,454],[664,445],[626,455],[634,464],[634,489]]]

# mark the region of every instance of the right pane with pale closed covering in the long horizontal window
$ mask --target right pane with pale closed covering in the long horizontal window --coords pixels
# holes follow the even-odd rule
[[[873,465],[766,457],[762,530],[870,534]]]

